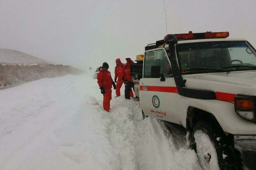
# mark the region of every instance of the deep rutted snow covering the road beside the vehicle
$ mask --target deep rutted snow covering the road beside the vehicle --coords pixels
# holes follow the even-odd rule
[[[139,102],[113,91],[103,111],[90,74],[40,79],[0,96],[0,170],[201,169],[162,121],[142,119]]]

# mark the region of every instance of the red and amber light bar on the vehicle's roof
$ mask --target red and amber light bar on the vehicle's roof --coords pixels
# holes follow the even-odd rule
[[[178,40],[199,40],[210,38],[226,38],[229,36],[228,32],[206,32],[206,33],[189,33],[184,34],[168,34],[164,37],[164,42],[178,41]]]

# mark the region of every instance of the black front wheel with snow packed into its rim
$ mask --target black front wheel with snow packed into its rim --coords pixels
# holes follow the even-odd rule
[[[192,133],[192,149],[203,170],[241,170],[228,137],[214,123],[199,121]]]

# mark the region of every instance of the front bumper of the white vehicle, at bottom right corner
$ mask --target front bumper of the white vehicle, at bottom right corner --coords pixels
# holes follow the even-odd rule
[[[234,145],[241,153],[244,170],[255,170],[256,135],[234,135]]]

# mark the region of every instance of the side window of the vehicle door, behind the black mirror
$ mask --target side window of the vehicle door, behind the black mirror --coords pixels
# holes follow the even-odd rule
[[[160,74],[163,74],[164,77],[172,74],[171,65],[164,49],[145,53],[144,78],[151,78],[151,66],[160,66]]]

